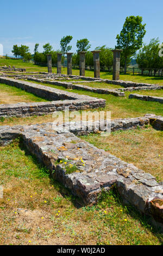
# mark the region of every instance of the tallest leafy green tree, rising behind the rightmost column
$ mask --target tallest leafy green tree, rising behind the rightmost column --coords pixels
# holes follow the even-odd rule
[[[146,24],[142,25],[142,17],[129,16],[124,22],[120,35],[116,36],[117,46],[123,50],[124,73],[127,70],[127,59],[133,56],[142,46],[143,36],[146,34]]]

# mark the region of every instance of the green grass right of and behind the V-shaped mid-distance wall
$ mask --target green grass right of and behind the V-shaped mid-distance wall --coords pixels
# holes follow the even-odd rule
[[[84,94],[89,95],[92,97],[97,97],[99,99],[105,99],[106,100],[106,107],[105,108],[99,108],[98,110],[105,110],[105,111],[111,111],[111,118],[127,118],[127,117],[139,117],[142,115],[145,115],[147,113],[153,113],[156,115],[163,115],[163,106],[159,102],[150,102],[150,101],[141,101],[137,99],[128,99],[129,94],[131,93],[137,93],[135,92],[126,92],[126,97],[117,97],[111,94],[105,95],[105,94],[97,94],[97,93],[91,93],[86,92],[84,90],[70,90],[65,89],[62,86],[54,86],[53,84],[46,84],[46,83],[39,83],[43,84],[45,86],[49,86],[52,88],[65,90],[66,92],[72,92],[77,94]],[[161,95],[162,90],[156,90],[157,94]],[[142,93],[142,91],[141,91]],[[148,92],[143,92],[145,95]],[[150,93],[154,93],[151,91]]]

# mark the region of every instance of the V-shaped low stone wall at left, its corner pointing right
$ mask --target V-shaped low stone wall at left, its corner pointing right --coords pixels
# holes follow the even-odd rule
[[[105,107],[105,100],[103,99],[65,92],[64,90],[41,86],[26,81],[0,77],[0,83],[9,84],[10,86],[21,88],[45,99],[53,100],[52,102],[1,104],[0,117],[27,117],[30,115],[49,114],[54,111],[62,111],[67,106],[71,111]]]

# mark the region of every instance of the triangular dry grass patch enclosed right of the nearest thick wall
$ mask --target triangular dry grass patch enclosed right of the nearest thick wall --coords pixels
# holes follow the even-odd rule
[[[80,138],[151,173],[158,182],[163,181],[163,131],[149,126],[146,129],[111,132],[105,140],[96,134]]]

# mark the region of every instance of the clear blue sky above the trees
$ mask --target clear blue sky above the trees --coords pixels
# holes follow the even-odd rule
[[[91,50],[115,47],[116,35],[131,15],[142,16],[146,23],[145,43],[157,37],[163,42],[162,0],[7,0],[0,8],[0,44],[9,56],[14,44],[28,45],[33,53],[36,43],[42,51],[49,42],[57,50],[65,35],[73,36],[72,52],[83,38],[89,39]]]

